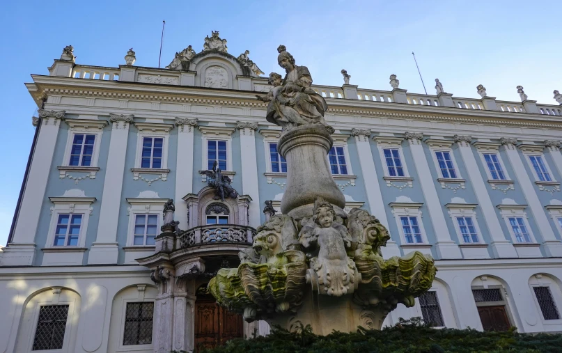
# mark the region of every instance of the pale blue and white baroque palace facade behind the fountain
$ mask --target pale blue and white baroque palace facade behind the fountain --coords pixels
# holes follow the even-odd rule
[[[217,32],[165,69],[134,66],[132,50],[116,68],[78,65],[69,46],[32,75],[40,109],[0,249],[0,352],[167,353],[267,334],[206,290],[286,187],[281,130],[256,100],[272,86],[248,54],[228,54]],[[419,95],[396,75],[375,91],[342,74],[341,87],[312,87],[346,210],[387,226],[384,258],[421,251],[439,270],[385,324],[562,331],[562,95],[537,104],[519,86],[522,102],[504,102],[480,85],[480,99],[460,98],[438,80]],[[237,192],[221,199],[214,166]],[[164,211],[177,239],[157,237]]]

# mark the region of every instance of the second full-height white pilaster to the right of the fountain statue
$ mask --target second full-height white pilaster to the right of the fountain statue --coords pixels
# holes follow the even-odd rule
[[[405,133],[405,139],[409,142],[410,150],[412,150],[412,158],[418,172],[423,198],[426,200],[433,230],[435,230],[437,256],[439,259],[462,258],[458,245],[451,240],[451,235],[448,233],[443,208],[435,189],[435,181],[429,169],[430,162],[426,159],[426,153],[423,152],[423,146],[421,146],[422,138],[423,135],[421,133]]]

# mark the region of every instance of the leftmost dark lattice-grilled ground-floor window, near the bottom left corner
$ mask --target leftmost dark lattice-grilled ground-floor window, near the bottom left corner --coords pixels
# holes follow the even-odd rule
[[[64,343],[67,317],[68,305],[41,306],[33,350],[60,350]]]

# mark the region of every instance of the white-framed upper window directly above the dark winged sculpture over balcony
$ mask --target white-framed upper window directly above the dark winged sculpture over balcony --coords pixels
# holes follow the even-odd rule
[[[217,168],[220,168],[221,171],[231,172],[233,170],[232,134],[235,132],[235,128],[201,125],[198,128],[203,134],[201,170],[208,171],[212,169],[214,162],[217,162]],[[228,175],[228,173],[226,174]]]

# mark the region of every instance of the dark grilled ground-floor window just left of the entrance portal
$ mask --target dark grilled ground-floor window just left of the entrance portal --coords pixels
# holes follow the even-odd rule
[[[123,345],[150,345],[153,343],[152,301],[129,302],[125,313]]]

